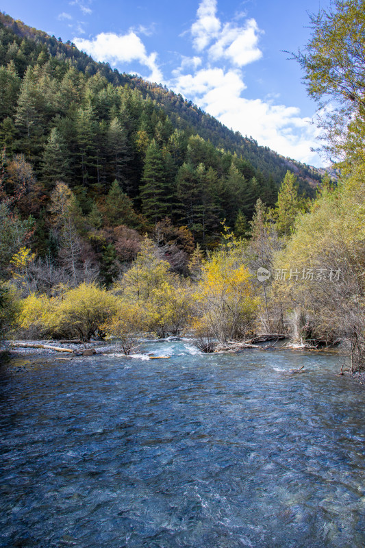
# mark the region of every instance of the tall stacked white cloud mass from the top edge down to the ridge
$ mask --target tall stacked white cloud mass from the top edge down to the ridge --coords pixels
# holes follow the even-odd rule
[[[227,127],[252,136],[259,145],[302,162],[320,163],[311,151],[316,147],[318,130],[310,119],[301,116],[299,108],[277,104],[279,97],[243,96],[247,86],[240,69],[262,58],[262,30],[255,19],[238,23],[244,16],[240,13],[223,23],[216,13],[216,0],[201,1],[197,19],[190,27],[192,45],[199,57],[183,58],[168,85]],[[199,62],[194,63],[194,59]]]

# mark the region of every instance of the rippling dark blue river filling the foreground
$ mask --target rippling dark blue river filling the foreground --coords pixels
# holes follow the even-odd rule
[[[365,391],[342,358],[144,350],[171,359],[0,369],[1,547],[364,546]]]

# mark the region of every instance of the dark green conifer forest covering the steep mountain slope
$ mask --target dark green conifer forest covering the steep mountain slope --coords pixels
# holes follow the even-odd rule
[[[40,256],[49,253],[47,212],[56,182],[72,190],[80,214],[88,216],[84,232],[112,228],[116,219],[145,230],[168,218],[204,246],[214,244],[222,219],[232,227],[251,219],[258,197],[275,203],[279,164],[273,174],[266,160],[266,174],[255,169],[241,155],[255,148],[252,142],[237,137],[234,147],[223,126],[181,96],[2,19],[2,192],[16,199],[23,218],[34,217]],[[226,140],[229,147],[221,148]],[[112,219],[105,204],[113,199],[117,208],[116,196],[123,208]]]

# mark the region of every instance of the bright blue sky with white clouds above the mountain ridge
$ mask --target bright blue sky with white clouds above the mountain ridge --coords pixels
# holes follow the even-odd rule
[[[166,84],[225,125],[283,154],[320,166],[316,105],[297,51],[308,12],[329,0],[2,0],[1,10],[71,40],[95,60]]]

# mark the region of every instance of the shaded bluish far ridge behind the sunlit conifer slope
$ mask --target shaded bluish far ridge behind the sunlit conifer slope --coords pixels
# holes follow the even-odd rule
[[[90,55],[79,51],[69,40],[64,43],[60,38],[49,36],[46,32],[25,25],[22,21],[15,21],[4,13],[0,13],[0,23],[20,38],[34,40],[36,43],[47,46],[50,55],[58,60],[71,62],[78,71],[88,75],[100,73],[114,85],[127,84],[131,89],[140,90],[143,97],[150,97],[156,105],[164,109],[174,127],[189,129],[190,132],[199,134],[205,140],[210,140],[218,149],[242,155],[242,158],[248,160],[255,170],[260,171],[264,177],[272,177],[277,184],[284,178],[287,169],[290,169],[299,178],[301,190],[312,196],[314,187],[327,171],[291,158],[284,158],[268,147],[258,145],[253,138],[244,137],[240,132],[228,129],[214,116],[207,114],[180,94],[168,90],[166,86],[147,82],[136,75],[121,74],[116,69],[111,69],[108,63],[96,62]]]

